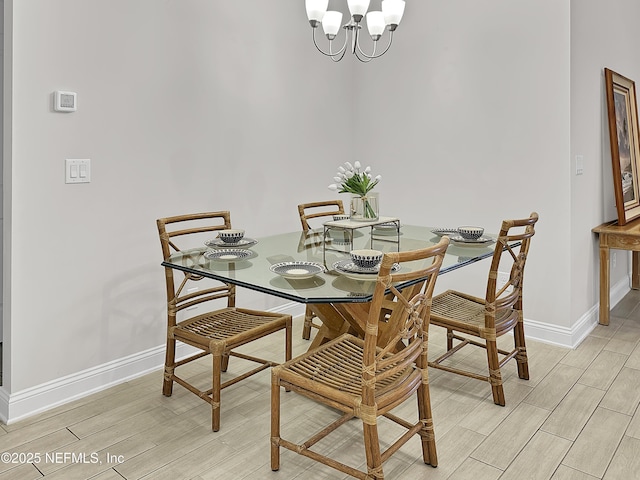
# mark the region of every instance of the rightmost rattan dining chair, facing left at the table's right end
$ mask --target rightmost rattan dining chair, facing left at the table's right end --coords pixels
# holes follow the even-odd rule
[[[447,351],[429,362],[429,366],[489,382],[493,401],[504,406],[501,368],[512,358],[518,365],[518,376],[529,379],[529,363],[524,337],[522,313],[522,284],[524,267],[529,254],[531,238],[538,214],[529,218],[505,220],[489,269],[485,298],[478,298],[455,290],[448,290],[433,298],[431,324],[447,330]],[[519,242],[518,246],[509,246]],[[509,271],[509,280],[498,284],[498,273]],[[498,348],[498,337],[513,331],[514,348],[506,351]],[[456,344],[454,345],[454,340]],[[461,368],[459,364],[446,362],[453,354],[467,345],[486,350],[488,375]],[[502,358],[501,358],[502,357]]]

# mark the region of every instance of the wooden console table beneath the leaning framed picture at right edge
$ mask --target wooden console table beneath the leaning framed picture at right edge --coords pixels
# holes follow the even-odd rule
[[[609,250],[631,250],[631,288],[640,288],[640,219],[620,226],[617,221],[603,223],[591,230],[600,237],[600,318],[601,325],[609,325]]]

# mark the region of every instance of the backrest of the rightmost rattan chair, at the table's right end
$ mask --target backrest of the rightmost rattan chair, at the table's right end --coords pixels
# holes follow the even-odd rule
[[[513,307],[522,308],[524,267],[537,221],[538,214],[533,212],[529,218],[502,222],[487,281],[485,323],[489,328],[495,326],[491,323],[495,321],[496,312]],[[509,243],[513,242],[520,242],[520,244],[510,247]],[[499,274],[507,272],[509,272],[509,280],[504,285],[500,285]]]

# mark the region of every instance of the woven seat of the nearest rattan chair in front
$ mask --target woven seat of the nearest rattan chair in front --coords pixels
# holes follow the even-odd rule
[[[330,343],[315,349],[308,355],[302,355],[286,364],[276,367],[280,370],[283,379],[287,378],[286,370],[291,374],[308,379],[316,384],[325,385],[340,393],[351,396],[354,405],[360,403],[362,395],[362,361],[364,355],[364,342],[352,335],[342,335]],[[389,357],[386,355],[386,357]],[[395,367],[395,364],[387,366],[382,373]],[[405,368],[398,373],[376,382],[376,397],[383,397],[391,388],[397,387],[412,373],[413,368]],[[416,373],[416,375],[420,375]],[[327,394],[330,391],[325,391]],[[343,395],[336,395],[344,399]],[[378,407],[382,405],[378,403]]]

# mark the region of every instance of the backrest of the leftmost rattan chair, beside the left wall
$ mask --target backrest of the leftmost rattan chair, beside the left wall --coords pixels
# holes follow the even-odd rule
[[[195,255],[201,255],[204,242],[212,240],[215,232],[231,228],[231,217],[228,211],[193,213],[174,217],[160,218],[156,221],[162,257],[166,260],[172,253],[198,248]],[[235,286],[215,282],[192,273],[184,273],[180,280],[179,273],[173,268],[165,267],[167,287],[167,305],[169,324],[175,325],[177,312],[200,303],[210,302],[219,298],[227,298],[227,306],[235,306]],[[178,278],[176,278],[178,277]],[[213,284],[210,287],[198,288],[189,292],[191,282]],[[178,283],[179,282],[179,283]]]

